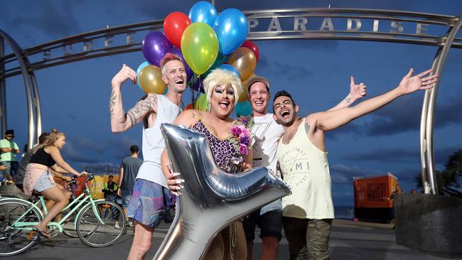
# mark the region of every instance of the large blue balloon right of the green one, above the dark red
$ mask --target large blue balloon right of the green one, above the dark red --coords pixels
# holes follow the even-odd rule
[[[223,55],[228,55],[244,43],[249,26],[244,13],[230,8],[220,13],[215,20],[213,30],[217,33]]]

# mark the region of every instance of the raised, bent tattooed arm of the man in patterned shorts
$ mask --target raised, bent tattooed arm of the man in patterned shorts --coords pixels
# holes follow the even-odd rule
[[[111,116],[111,130],[113,133],[126,131],[132,126],[138,124],[149,112],[156,112],[157,97],[156,94],[148,94],[146,99],[140,100],[136,105],[124,113],[122,104],[122,90],[120,87],[126,80],[131,80],[136,84],[136,72],[131,70],[127,65],[123,65],[114,78],[112,78],[112,92],[109,99],[109,114]]]

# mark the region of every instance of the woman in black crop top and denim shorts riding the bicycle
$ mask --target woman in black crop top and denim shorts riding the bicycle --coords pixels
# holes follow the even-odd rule
[[[55,205],[48,211],[48,215],[45,215],[43,221],[35,226],[36,231],[46,238],[50,238],[50,234],[46,231],[46,225],[69,203],[63,190],[55,184],[50,169],[58,173],[72,173],[77,176],[85,174],[85,171],[78,173],[64,161],[60,153],[60,148],[63,148],[64,144],[64,133],[52,129],[48,139],[39,146],[27,165],[23,182],[26,195],[31,195],[33,190],[36,190],[47,200],[55,202]]]

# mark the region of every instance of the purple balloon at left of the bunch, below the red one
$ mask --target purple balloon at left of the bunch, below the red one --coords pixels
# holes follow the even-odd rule
[[[171,43],[160,31],[146,34],[143,43],[141,43],[144,58],[157,67],[160,67],[161,59],[171,48]]]

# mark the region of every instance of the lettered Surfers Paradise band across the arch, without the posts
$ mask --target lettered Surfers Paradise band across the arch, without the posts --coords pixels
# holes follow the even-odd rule
[[[249,40],[329,39],[372,40],[441,46],[446,31],[457,21],[455,16],[369,9],[284,9],[245,11]],[[149,31],[160,31],[163,21],[149,21],[105,28],[23,50],[31,61],[29,70],[40,70],[107,55],[140,50]],[[453,48],[462,48],[455,38]],[[16,60],[14,55],[0,57],[0,63]],[[19,67],[5,70],[0,78],[20,74]]]

